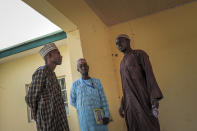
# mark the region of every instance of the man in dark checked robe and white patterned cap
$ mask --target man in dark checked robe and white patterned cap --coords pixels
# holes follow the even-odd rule
[[[54,43],[45,45],[40,54],[46,65],[34,72],[26,103],[38,131],[69,131],[61,87],[54,72],[61,65],[62,56]]]

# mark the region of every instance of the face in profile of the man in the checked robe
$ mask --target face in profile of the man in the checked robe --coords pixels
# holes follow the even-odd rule
[[[50,52],[50,54],[51,54],[51,57],[50,57],[51,62],[53,62],[56,65],[62,64],[62,56],[61,56],[59,50],[57,50],[57,49],[52,50]]]

